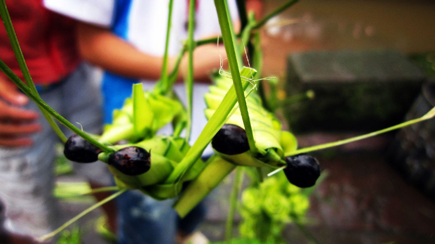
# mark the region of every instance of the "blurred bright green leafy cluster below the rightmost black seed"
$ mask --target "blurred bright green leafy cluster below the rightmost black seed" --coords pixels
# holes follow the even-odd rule
[[[282,232],[287,224],[295,223],[299,227],[306,222],[312,188],[288,184],[282,171],[246,188],[239,206],[241,237],[261,243],[284,243]]]

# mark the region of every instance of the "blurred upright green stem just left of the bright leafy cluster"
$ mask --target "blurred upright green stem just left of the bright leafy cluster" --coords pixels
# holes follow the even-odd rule
[[[233,189],[230,196],[230,206],[228,208],[227,222],[225,223],[225,241],[230,241],[233,233],[234,213],[236,211],[237,198],[239,195],[241,181],[243,177],[243,168],[236,168],[236,175],[234,176]]]

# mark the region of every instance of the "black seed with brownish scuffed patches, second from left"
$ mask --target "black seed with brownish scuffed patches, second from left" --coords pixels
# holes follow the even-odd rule
[[[151,154],[140,147],[122,148],[109,156],[109,165],[125,175],[141,175],[151,168]]]

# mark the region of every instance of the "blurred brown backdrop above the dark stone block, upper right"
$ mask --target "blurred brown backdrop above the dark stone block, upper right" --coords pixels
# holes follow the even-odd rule
[[[268,13],[285,1],[264,2]],[[301,0],[269,23],[263,38],[265,72],[282,74],[289,53],[308,50],[434,51],[433,13],[431,0]],[[295,23],[274,25],[283,19]]]

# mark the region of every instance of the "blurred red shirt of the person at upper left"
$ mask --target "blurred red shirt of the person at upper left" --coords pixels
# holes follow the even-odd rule
[[[6,0],[6,5],[35,84],[57,82],[77,67],[74,20],[45,9],[42,0]],[[23,79],[3,25],[0,58]]]

